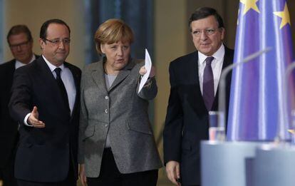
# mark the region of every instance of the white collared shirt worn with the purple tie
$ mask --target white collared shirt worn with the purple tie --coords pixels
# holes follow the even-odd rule
[[[218,83],[219,83],[219,78],[222,72],[222,65],[223,65],[223,61],[224,61],[224,53],[225,53],[225,49],[224,49],[224,45],[222,44],[222,46],[219,47],[219,49],[212,55],[212,57],[214,57],[212,63],[211,63],[211,67],[212,67],[212,71],[213,71],[213,77],[214,77],[214,95],[216,95],[217,93],[217,87],[218,87]],[[199,67],[199,81],[200,81],[200,88],[201,88],[201,93],[203,94],[203,75],[204,75],[204,69],[206,66],[206,58],[209,56],[205,56],[203,53],[200,53],[200,51],[198,52],[198,67]]]

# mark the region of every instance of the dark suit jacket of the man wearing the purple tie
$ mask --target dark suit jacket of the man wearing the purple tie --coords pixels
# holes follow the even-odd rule
[[[234,51],[225,47],[222,68],[232,63]],[[190,53],[170,63],[170,97],[167,107],[164,162],[180,162],[182,184],[200,185],[200,141],[208,139],[208,110],[200,90],[198,53]],[[227,100],[231,75],[227,76]],[[218,107],[218,91],[212,110]]]

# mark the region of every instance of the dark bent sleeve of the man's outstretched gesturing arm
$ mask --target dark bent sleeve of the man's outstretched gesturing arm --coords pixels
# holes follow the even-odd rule
[[[11,118],[24,124],[24,118],[31,113],[31,82],[29,74],[19,68],[14,73],[14,83],[11,88],[11,99],[9,101],[9,112]]]

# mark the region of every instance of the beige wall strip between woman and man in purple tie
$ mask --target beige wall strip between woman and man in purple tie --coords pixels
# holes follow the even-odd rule
[[[155,67],[158,93],[155,98],[155,135],[162,135],[167,98],[169,97],[169,62],[186,53],[187,27],[186,1],[160,0],[155,2]],[[159,146],[162,156],[162,143]],[[165,172],[160,170],[159,181],[165,182]],[[161,181],[163,180],[163,181]],[[167,180],[166,180],[167,181]]]

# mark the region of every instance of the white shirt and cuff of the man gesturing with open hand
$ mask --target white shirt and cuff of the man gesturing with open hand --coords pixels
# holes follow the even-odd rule
[[[73,106],[75,104],[76,100],[76,86],[75,86],[75,81],[73,79],[73,74],[71,73],[70,69],[68,69],[66,66],[63,64],[61,66],[53,66],[44,56],[42,56],[46,64],[51,70],[51,73],[53,74],[54,78],[56,78],[56,71],[54,71],[56,68],[61,68],[61,80],[63,81],[63,84],[65,85],[66,88],[66,93],[68,95],[68,104],[71,110],[71,113],[73,112]],[[24,118],[24,124],[28,126],[32,126],[27,123],[27,120],[31,113],[26,115]]]

